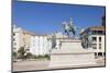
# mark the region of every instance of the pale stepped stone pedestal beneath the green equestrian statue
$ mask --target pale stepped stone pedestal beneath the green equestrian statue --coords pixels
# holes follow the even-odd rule
[[[61,48],[51,52],[50,66],[85,66],[96,64],[95,53],[81,47],[79,39],[61,39]]]

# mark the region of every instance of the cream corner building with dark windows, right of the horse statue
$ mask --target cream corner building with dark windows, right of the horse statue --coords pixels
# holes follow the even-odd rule
[[[105,56],[106,29],[105,26],[88,27],[80,34],[81,45],[85,49],[92,49],[95,56]]]

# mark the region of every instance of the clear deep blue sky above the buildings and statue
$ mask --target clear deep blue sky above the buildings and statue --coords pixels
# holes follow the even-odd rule
[[[36,34],[63,31],[63,22],[73,17],[80,28],[101,25],[105,7],[13,1],[13,24]]]

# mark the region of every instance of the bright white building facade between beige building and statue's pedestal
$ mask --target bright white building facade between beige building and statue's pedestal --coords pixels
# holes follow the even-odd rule
[[[35,35],[31,37],[31,48],[30,52],[35,56],[50,54],[52,49],[51,40],[48,40],[46,35]]]

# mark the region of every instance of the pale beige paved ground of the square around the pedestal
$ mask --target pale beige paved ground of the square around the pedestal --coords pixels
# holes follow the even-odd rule
[[[33,71],[33,70],[51,70],[51,69],[68,69],[68,68],[88,68],[88,66],[105,66],[105,60],[96,59],[97,64],[89,64],[89,65],[72,65],[72,66],[58,66],[58,68],[50,68],[50,61],[19,61],[13,62],[13,72],[18,71]]]

